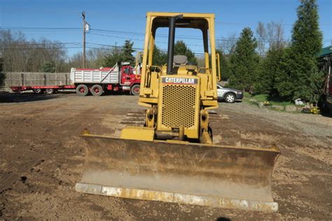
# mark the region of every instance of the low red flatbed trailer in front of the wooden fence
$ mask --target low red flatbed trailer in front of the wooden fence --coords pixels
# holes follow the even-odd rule
[[[76,89],[74,85],[50,85],[50,86],[12,86],[11,91],[13,92],[21,92],[21,91],[34,91],[36,94],[47,93],[53,94],[56,93],[57,90],[69,90]]]

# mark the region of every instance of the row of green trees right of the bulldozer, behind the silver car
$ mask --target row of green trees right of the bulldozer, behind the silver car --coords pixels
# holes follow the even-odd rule
[[[265,93],[274,100],[318,102],[324,73],[317,61],[322,47],[317,2],[301,0],[297,17],[289,43],[283,40],[282,26],[275,22],[267,27],[258,23],[258,39],[249,27],[242,30],[230,53],[221,58],[221,73],[230,87]],[[266,36],[268,51],[261,41]]]

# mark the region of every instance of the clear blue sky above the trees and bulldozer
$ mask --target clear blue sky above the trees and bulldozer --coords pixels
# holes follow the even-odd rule
[[[323,45],[332,45],[332,0],[318,0],[319,25]],[[61,41],[68,55],[82,51],[82,11],[85,11],[90,32],[86,34],[87,48],[122,46],[125,39],[140,50],[144,45],[146,12],[214,13],[216,39],[239,36],[244,27],[254,32],[258,21],[281,22],[284,37],[291,39],[296,21],[298,0],[0,0],[0,29],[20,30],[27,39],[46,37]],[[157,32],[157,45],[167,48],[167,29]],[[202,53],[201,34],[197,30],[177,31],[196,54]],[[218,41],[217,41],[218,42]]]

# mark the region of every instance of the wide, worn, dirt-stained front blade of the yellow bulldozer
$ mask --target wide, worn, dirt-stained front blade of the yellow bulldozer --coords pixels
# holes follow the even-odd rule
[[[277,211],[270,187],[277,147],[258,149],[82,135],[76,191],[219,208]]]

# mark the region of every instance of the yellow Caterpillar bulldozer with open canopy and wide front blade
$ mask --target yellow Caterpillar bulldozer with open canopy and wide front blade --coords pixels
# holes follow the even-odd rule
[[[168,28],[167,64],[153,65],[155,33]],[[202,32],[205,67],[174,56],[175,30]],[[219,208],[276,211],[271,176],[279,149],[214,145],[209,110],[218,107],[220,80],[214,14],[146,15],[139,105],[144,126],[128,126],[120,138],[92,135],[76,191],[130,199]],[[222,122],[220,122],[222,123]]]

